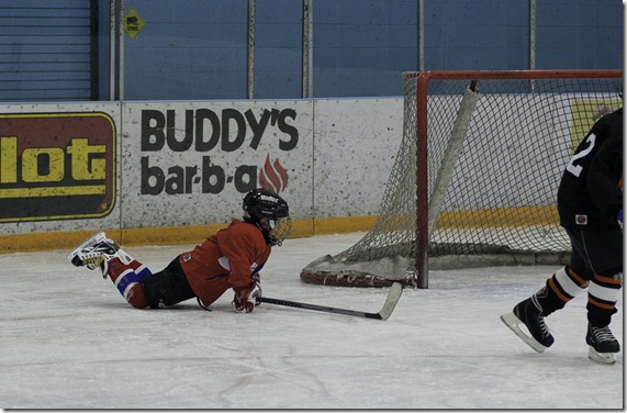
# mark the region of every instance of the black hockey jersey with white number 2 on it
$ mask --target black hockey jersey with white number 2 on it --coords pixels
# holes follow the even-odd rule
[[[560,224],[607,230],[623,210],[623,108],[592,126],[563,172],[558,190]]]

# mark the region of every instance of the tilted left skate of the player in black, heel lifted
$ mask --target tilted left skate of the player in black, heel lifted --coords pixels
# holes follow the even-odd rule
[[[542,309],[535,295],[516,304],[512,313],[501,315],[501,321],[525,344],[538,353],[542,353],[555,342],[545,324]],[[520,324],[527,327],[530,335],[520,330]]]

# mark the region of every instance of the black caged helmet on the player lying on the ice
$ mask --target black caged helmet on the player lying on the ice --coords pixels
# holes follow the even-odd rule
[[[290,233],[292,221],[288,202],[276,192],[257,188],[244,197],[244,221],[255,224],[270,246],[281,246]]]

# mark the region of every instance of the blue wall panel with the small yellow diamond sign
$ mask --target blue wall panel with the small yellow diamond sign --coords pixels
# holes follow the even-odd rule
[[[124,43],[124,98],[246,97],[247,1],[126,1],[145,21]]]

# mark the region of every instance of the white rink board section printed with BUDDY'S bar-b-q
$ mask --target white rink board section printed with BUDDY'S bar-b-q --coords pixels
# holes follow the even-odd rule
[[[292,211],[302,211],[311,199],[311,103],[161,102],[124,109],[122,197],[128,225],[228,222],[242,217],[244,194],[258,187],[283,196]]]

